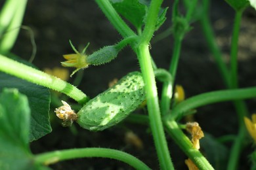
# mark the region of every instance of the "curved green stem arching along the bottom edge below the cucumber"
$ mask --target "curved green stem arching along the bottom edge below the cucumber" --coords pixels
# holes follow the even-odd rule
[[[54,152],[47,152],[35,156],[35,164],[49,165],[57,161],[71,160],[75,158],[111,158],[114,160],[123,161],[135,169],[150,169],[139,159],[127,154],[125,152],[114,150],[110,148],[75,148],[68,150],[60,150]]]

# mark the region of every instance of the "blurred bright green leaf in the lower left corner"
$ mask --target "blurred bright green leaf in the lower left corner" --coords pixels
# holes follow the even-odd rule
[[[26,95],[4,89],[0,94],[0,169],[28,169],[30,107]]]

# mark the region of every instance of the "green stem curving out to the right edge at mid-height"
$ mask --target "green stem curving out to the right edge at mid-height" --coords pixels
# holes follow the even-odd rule
[[[219,103],[221,101],[232,101],[238,99],[249,99],[256,97],[256,88],[240,88],[236,90],[218,90],[215,92],[202,93],[190,97],[181,103],[179,103],[171,111],[173,119],[178,118],[186,111],[202,107],[203,105],[209,105],[211,103]]]

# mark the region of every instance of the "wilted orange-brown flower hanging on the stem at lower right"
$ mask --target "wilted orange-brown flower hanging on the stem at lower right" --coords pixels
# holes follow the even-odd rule
[[[199,140],[204,137],[203,131],[197,122],[188,122],[186,123],[186,131],[188,131],[192,136],[193,147],[200,149]]]

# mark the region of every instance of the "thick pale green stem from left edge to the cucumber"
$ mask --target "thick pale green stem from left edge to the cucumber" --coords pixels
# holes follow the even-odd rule
[[[1,54],[0,61],[0,71],[9,75],[17,76],[18,78],[28,80],[29,82],[65,93],[81,104],[88,100],[85,93],[81,92],[81,90],[77,89],[72,84],[61,80],[60,78],[56,78],[56,76],[48,75],[47,73],[43,73],[42,71],[34,69],[28,65],[24,65],[23,63],[19,63],[2,56]]]

